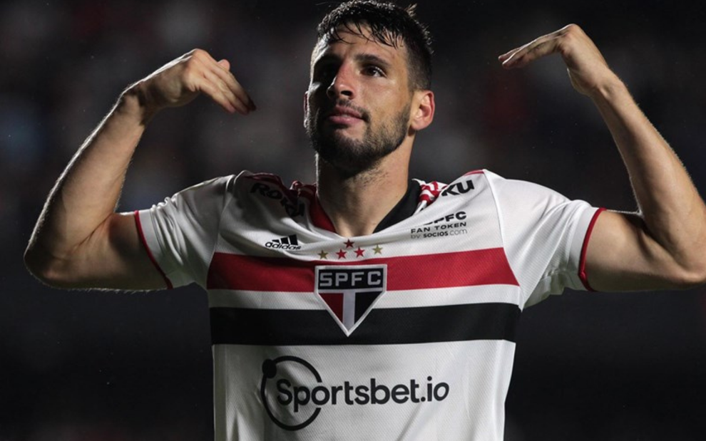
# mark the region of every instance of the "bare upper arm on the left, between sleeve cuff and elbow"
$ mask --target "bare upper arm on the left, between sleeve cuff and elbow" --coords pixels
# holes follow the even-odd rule
[[[147,290],[165,288],[165,280],[143,246],[135,214],[111,214],[63,262],[56,286]]]

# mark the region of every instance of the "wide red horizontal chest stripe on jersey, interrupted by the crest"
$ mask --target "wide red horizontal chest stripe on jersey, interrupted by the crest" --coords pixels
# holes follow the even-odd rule
[[[207,289],[312,292],[314,266],[387,264],[387,290],[516,285],[502,248],[424,256],[397,256],[359,261],[297,261],[215,253],[208,269]]]

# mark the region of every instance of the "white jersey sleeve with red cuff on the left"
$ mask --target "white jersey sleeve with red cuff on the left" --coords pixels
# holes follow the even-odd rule
[[[205,286],[233,180],[209,180],[135,212],[140,239],[169,288],[194,281]]]

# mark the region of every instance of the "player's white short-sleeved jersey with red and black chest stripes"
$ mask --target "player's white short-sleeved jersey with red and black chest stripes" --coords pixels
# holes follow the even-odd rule
[[[314,186],[242,172],[135,219],[168,286],[208,291],[217,441],[492,441],[520,313],[588,288],[599,211],[480,170],[341,237]]]

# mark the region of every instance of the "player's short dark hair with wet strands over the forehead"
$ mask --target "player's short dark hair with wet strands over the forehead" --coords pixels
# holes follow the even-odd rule
[[[337,28],[344,26],[362,36],[362,27],[367,27],[375,41],[394,48],[401,40],[409,54],[410,86],[426,90],[431,88],[431,35],[416,19],[415,9],[416,5],[402,8],[374,0],[346,1],[324,16],[317,27],[318,38],[341,41]]]

